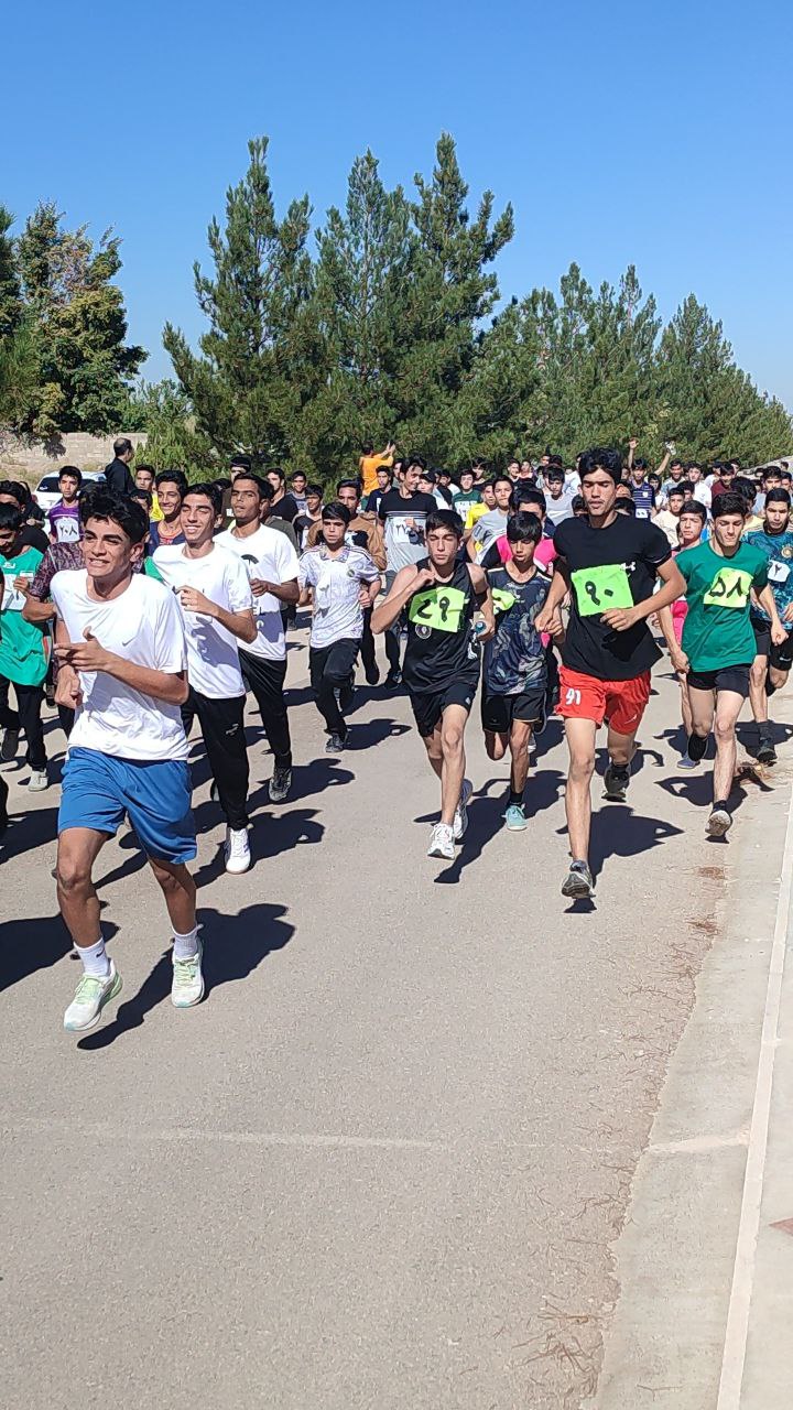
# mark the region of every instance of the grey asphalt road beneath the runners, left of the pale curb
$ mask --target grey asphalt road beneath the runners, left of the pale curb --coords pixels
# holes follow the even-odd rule
[[[358,691],[323,753],[305,634],[289,654],[292,801],[250,716],[254,867],[222,869],[195,767],[209,993],[168,1001],[164,909],[130,833],[100,859],[124,979],[63,1035],[58,788],[16,812],[0,956],[4,1402],[25,1410],[559,1410],[594,1389],[610,1245],[711,942],[725,846],[674,773],[656,671],[629,807],[595,787],[597,904],[566,870],[560,726],[529,828],[468,730],[454,864],[426,857],[437,785],[408,701]],[[62,746],[55,725],[51,754]],[[603,771],[603,761],[600,764]]]

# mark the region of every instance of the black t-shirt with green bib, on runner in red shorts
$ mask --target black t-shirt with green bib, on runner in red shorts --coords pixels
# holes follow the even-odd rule
[[[564,666],[600,681],[632,681],[649,671],[660,651],[646,622],[615,632],[603,612],[652,596],[656,570],[672,557],[666,534],[646,519],[625,515],[617,515],[607,529],[593,529],[588,519],[564,519],[553,546],[573,587]]]

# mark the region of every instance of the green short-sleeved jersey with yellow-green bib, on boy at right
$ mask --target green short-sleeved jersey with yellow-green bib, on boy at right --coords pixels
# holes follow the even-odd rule
[[[700,543],[679,553],[674,564],[687,582],[682,644],[691,670],[718,671],[753,661],[751,592],[762,592],[768,582],[765,553],[741,540],[727,558],[710,543]]]

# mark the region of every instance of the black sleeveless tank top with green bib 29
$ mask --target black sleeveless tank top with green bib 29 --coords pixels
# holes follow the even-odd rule
[[[416,567],[429,567],[429,558]],[[476,684],[480,670],[480,647],[471,625],[476,606],[464,563],[454,563],[449,582],[433,582],[413,594],[405,608],[408,646],[402,668],[409,691],[433,694],[454,680]]]

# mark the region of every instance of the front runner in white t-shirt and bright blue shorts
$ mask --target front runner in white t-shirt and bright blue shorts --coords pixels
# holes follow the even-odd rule
[[[121,988],[104,950],[93,863],[128,816],[162,888],[174,926],[171,1000],[203,997],[196,854],[188,742],[179,706],[188,698],[186,644],[168,589],[133,572],[143,560],[144,510],[97,491],[85,522],[85,568],[56,572],[56,698],[75,709],[58,816],[58,901],[83,974],[63,1015],[69,1032],[93,1028]]]

